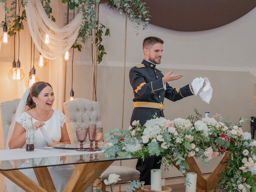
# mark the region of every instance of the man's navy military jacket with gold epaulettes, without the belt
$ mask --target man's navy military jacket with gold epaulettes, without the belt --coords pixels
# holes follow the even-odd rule
[[[163,77],[164,75],[156,68],[156,65],[146,60],[133,67],[129,73],[130,84],[134,93],[133,101],[164,103],[164,98],[177,101],[193,95],[189,84],[176,89],[166,83],[166,90],[164,90]],[[144,125],[147,120],[152,119],[155,113],[158,117],[164,117],[164,112],[160,109],[134,108],[130,124],[134,120],[140,120],[140,124]]]

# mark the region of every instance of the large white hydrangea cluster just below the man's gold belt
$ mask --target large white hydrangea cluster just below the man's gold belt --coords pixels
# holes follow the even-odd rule
[[[150,138],[156,138],[156,136],[162,134],[167,129],[169,120],[163,117],[147,120],[144,126],[143,135],[150,135]]]

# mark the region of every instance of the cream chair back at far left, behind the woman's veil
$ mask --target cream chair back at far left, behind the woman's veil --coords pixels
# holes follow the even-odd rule
[[[16,113],[16,109],[20,99],[14,99],[12,101],[5,101],[0,104],[1,108],[1,118],[2,118],[2,129],[3,129],[3,137],[4,137],[4,148],[6,145],[6,139],[8,135],[8,131],[12,122],[12,118]]]

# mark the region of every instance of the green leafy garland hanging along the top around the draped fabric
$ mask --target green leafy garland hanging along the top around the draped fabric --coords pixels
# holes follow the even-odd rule
[[[134,24],[136,30],[136,35],[138,35],[138,29],[142,19],[145,21],[142,29],[146,29],[149,23],[149,11],[145,7],[145,2],[141,0],[62,0],[62,3],[66,4],[69,1],[70,10],[76,8],[77,13],[81,13],[83,16],[82,25],[80,27],[78,37],[76,42],[72,47],[77,48],[79,51],[82,49],[82,45],[78,42],[85,43],[88,39],[95,41],[97,46],[97,61],[100,63],[105,52],[104,45],[102,45],[102,37],[110,36],[110,29],[102,24],[99,19],[96,17],[95,6],[98,6],[100,3],[107,3],[108,6],[112,9],[117,9],[120,14],[123,12],[128,14],[129,20]],[[4,26],[4,23],[9,27],[9,35],[13,36],[18,30],[23,30],[23,22],[26,20],[26,11],[23,10],[20,14],[20,10],[16,11],[16,1],[13,0],[10,7],[5,7],[6,0],[0,0],[4,3],[4,8],[6,8],[6,18],[1,22],[1,26]],[[55,22],[54,16],[52,16],[52,8],[50,6],[50,0],[41,0],[44,10],[47,16]],[[26,6],[28,0],[22,0],[22,6]],[[20,6],[21,7],[21,6]],[[96,37],[92,33],[93,30],[96,30]],[[103,35],[104,34],[104,35]]]

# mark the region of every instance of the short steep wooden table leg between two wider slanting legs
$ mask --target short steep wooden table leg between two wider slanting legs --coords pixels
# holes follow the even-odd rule
[[[56,192],[56,188],[54,186],[48,168],[38,167],[33,169],[36,174],[36,178],[38,180],[39,185],[42,186],[42,188],[44,188],[46,191]]]

